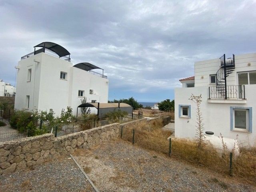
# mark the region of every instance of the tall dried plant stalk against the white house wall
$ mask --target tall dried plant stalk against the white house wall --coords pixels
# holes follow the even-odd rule
[[[199,96],[191,94],[189,100],[192,100],[196,104],[196,141],[198,143],[198,148],[202,148],[205,144],[204,124],[202,123],[203,119],[201,112],[202,94]]]

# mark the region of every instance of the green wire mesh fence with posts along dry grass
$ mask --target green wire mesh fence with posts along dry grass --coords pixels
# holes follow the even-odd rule
[[[147,135],[140,130],[121,127],[121,138],[143,148],[175,156],[205,166],[216,172],[236,175],[256,182],[256,160],[240,154],[234,156],[229,152],[218,152],[216,149],[199,149],[196,143],[178,139],[167,140],[164,137]]]

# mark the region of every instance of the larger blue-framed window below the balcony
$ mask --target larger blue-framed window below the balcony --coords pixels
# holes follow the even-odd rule
[[[230,130],[252,132],[252,107],[230,107]]]

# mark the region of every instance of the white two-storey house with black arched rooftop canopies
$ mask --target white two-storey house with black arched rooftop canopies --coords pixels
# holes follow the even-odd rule
[[[73,66],[70,53],[56,43],[34,46],[34,52],[23,56],[15,68],[15,109],[53,109],[59,115],[62,108],[71,106],[76,114],[84,96],[87,102],[108,102],[109,81],[103,69],[86,62]]]

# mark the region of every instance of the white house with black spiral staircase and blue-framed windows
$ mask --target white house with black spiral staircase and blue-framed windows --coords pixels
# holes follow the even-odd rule
[[[202,94],[205,131],[256,144],[256,53],[195,62],[194,74],[175,89],[175,137],[195,138],[196,104],[188,98]]]

